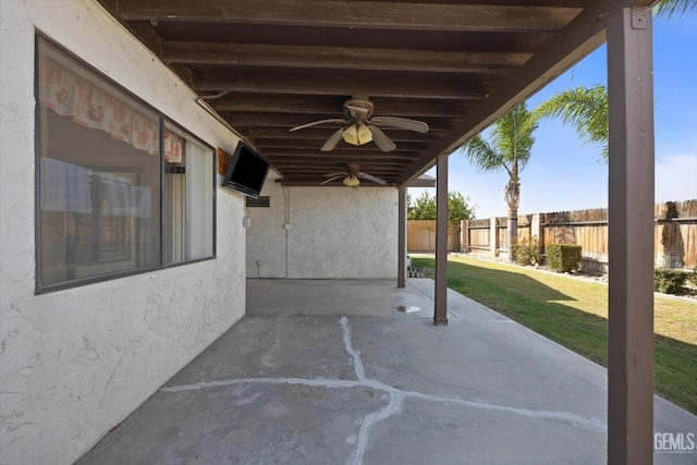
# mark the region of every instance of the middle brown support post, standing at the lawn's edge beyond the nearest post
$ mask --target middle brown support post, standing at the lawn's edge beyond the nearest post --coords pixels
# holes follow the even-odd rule
[[[433,322],[448,325],[448,155],[436,169],[436,306]]]

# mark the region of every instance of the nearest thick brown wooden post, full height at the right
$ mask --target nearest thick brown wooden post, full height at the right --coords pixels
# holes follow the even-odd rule
[[[608,464],[653,463],[651,12],[608,22]]]

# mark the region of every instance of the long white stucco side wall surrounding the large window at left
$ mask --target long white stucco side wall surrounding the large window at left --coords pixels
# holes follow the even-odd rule
[[[244,199],[218,189],[216,259],[34,295],[35,28],[210,146],[237,139],[98,4],[0,1],[0,462],[54,465],[242,317]]]

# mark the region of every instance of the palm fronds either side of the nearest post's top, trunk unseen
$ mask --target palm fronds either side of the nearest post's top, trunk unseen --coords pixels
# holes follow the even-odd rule
[[[656,15],[683,15],[697,10],[697,0],[663,0],[656,7]],[[608,88],[603,85],[577,87],[553,95],[535,109],[535,118],[557,117],[574,126],[585,143],[599,144],[601,158],[608,162]]]

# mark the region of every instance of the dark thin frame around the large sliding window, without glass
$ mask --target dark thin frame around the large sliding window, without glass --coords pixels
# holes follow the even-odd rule
[[[114,87],[117,90],[123,93],[126,97],[133,99],[135,102],[137,102],[138,105],[143,106],[144,108],[146,108],[148,111],[151,111],[152,113],[155,113],[157,115],[157,123],[158,123],[158,129],[159,129],[159,185],[157,186],[158,191],[159,191],[159,195],[160,195],[160,199],[159,199],[159,211],[156,213],[158,219],[159,219],[159,262],[156,265],[151,265],[151,266],[144,266],[142,268],[134,268],[134,269],[130,269],[130,270],[124,270],[124,271],[113,271],[113,272],[107,272],[105,274],[99,274],[99,276],[94,276],[94,277],[85,277],[85,278],[74,278],[71,279],[70,281],[61,281],[59,283],[51,283],[51,284],[44,284],[41,282],[41,270],[42,270],[42,260],[41,260],[41,137],[42,137],[42,130],[41,130],[41,106],[39,102],[39,42],[45,41],[45,44],[47,44],[50,47],[53,47],[54,49],[57,49],[58,51],[60,51],[62,54],[65,56],[66,59],[72,60],[76,65],[78,66],[83,66],[84,69],[86,69],[88,72],[93,73],[94,75],[96,75],[99,79],[102,79],[107,85],[110,85],[112,87]],[[180,266],[186,266],[186,265],[192,265],[192,264],[196,264],[199,261],[207,261],[207,260],[212,260],[217,258],[217,249],[218,249],[218,243],[217,243],[217,230],[218,230],[218,201],[217,201],[217,194],[218,194],[218,188],[217,188],[217,170],[216,170],[216,166],[217,166],[217,152],[216,149],[210,145],[207,144],[205,140],[203,140],[200,137],[198,137],[196,134],[194,134],[192,131],[188,131],[185,129],[185,126],[183,126],[182,124],[180,124],[176,120],[174,120],[173,118],[170,118],[168,114],[166,114],[164,112],[158,110],[157,108],[152,107],[151,105],[149,105],[147,101],[145,101],[143,98],[138,97],[136,94],[132,93],[131,90],[129,90],[127,88],[123,87],[121,84],[119,84],[118,82],[113,81],[112,78],[110,78],[109,76],[105,75],[102,72],[100,72],[99,70],[95,69],[95,66],[90,65],[88,62],[86,62],[84,59],[80,58],[78,56],[76,56],[75,53],[71,52],[70,50],[65,49],[65,47],[61,46],[60,44],[57,44],[54,40],[52,40],[50,37],[41,34],[40,32],[36,30],[35,33],[35,40],[34,40],[34,96],[35,96],[35,118],[34,118],[34,221],[35,221],[35,227],[34,227],[34,244],[35,244],[35,286],[34,286],[34,293],[35,295],[39,295],[39,294],[46,294],[46,293],[50,293],[50,292],[56,292],[56,291],[62,291],[62,290],[66,290],[66,289],[73,289],[73,287],[80,287],[83,285],[87,285],[87,284],[93,284],[93,283],[98,283],[98,282],[106,282],[106,281],[112,281],[112,280],[117,280],[117,279],[121,279],[121,278],[125,278],[125,277],[130,277],[130,276],[136,276],[136,274],[145,274],[145,273],[151,273],[154,271],[159,271],[159,270],[164,270],[164,269],[169,269],[169,268],[174,268],[174,267],[180,267]],[[50,110],[49,110],[50,111]],[[181,261],[175,261],[175,262],[166,262],[164,261],[164,235],[166,235],[166,224],[164,224],[164,198],[166,195],[169,196],[171,195],[171,193],[166,193],[164,192],[164,176],[166,176],[166,169],[167,169],[167,160],[164,160],[163,157],[163,151],[164,151],[164,144],[163,144],[163,139],[164,139],[164,131],[166,131],[166,126],[167,125],[171,125],[173,127],[175,127],[178,131],[186,134],[186,136],[188,138],[191,138],[192,142],[200,145],[200,147],[203,147],[203,149],[205,150],[205,154],[211,157],[211,169],[210,169],[210,186],[211,186],[211,192],[209,192],[210,194],[210,201],[212,203],[211,205],[211,210],[212,210],[212,215],[211,215],[211,242],[212,242],[212,249],[211,249],[211,254],[210,256],[206,256],[206,257],[201,257],[201,258],[195,258],[195,259],[182,259]],[[204,193],[204,195],[206,195]]]

